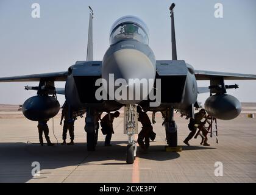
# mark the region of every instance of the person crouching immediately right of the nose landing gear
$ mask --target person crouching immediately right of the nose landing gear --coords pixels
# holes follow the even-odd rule
[[[138,112],[138,121],[142,124],[142,129],[140,133],[138,134],[138,144],[145,152],[149,148],[149,139],[152,141],[155,140],[155,133],[153,132],[153,127],[151,126],[151,121],[149,119],[149,116],[146,114],[146,112],[143,112],[141,110],[141,107],[137,107]],[[144,143],[144,141],[145,143]]]

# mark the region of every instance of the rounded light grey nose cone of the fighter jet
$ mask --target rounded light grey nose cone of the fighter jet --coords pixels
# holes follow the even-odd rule
[[[137,49],[120,49],[104,57],[102,79],[107,81],[104,88],[110,98],[121,104],[136,104],[152,90],[155,62]]]

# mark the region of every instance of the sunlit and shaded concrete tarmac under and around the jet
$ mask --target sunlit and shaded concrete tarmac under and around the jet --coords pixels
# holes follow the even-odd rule
[[[147,154],[137,152],[133,165],[126,164],[123,116],[114,121],[112,147],[104,146],[99,131],[96,151],[87,152],[84,118],[75,123],[74,146],[62,146],[60,115],[55,116],[48,122],[55,146],[41,147],[37,122],[24,118],[18,106],[12,108],[0,105],[0,182],[256,182],[256,118],[247,118],[256,104],[244,104],[243,113],[232,121],[218,120],[219,143],[209,137],[210,146],[201,146],[200,138],[185,146],[188,121],[176,114],[182,152],[165,151],[163,119],[157,115],[157,137]],[[40,163],[40,176],[32,176],[34,161]],[[216,176],[216,162],[222,163],[223,176]]]

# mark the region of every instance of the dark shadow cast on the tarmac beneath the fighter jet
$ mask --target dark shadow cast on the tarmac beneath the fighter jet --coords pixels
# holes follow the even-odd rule
[[[122,145],[121,145],[122,144]],[[33,179],[33,161],[38,161],[42,179],[51,174],[51,169],[66,166],[126,165],[126,141],[113,141],[112,147],[104,147],[99,141],[95,152],[88,152],[85,143],[74,146],[44,146],[27,143],[0,143],[0,182],[27,182]],[[214,149],[211,147],[182,146],[183,151],[193,149]],[[179,158],[177,152],[165,152],[164,146],[150,146],[147,154],[140,152],[137,157],[155,161]],[[105,162],[112,160],[112,162]],[[102,162],[103,161],[103,162]],[[40,181],[40,180],[39,180]]]

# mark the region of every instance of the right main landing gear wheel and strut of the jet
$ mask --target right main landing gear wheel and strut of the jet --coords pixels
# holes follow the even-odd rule
[[[177,147],[178,137],[177,137],[177,124],[173,118],[174,110],[169,108],[163,115],[163,125],[165,126],[166,141],[169,147]]]

